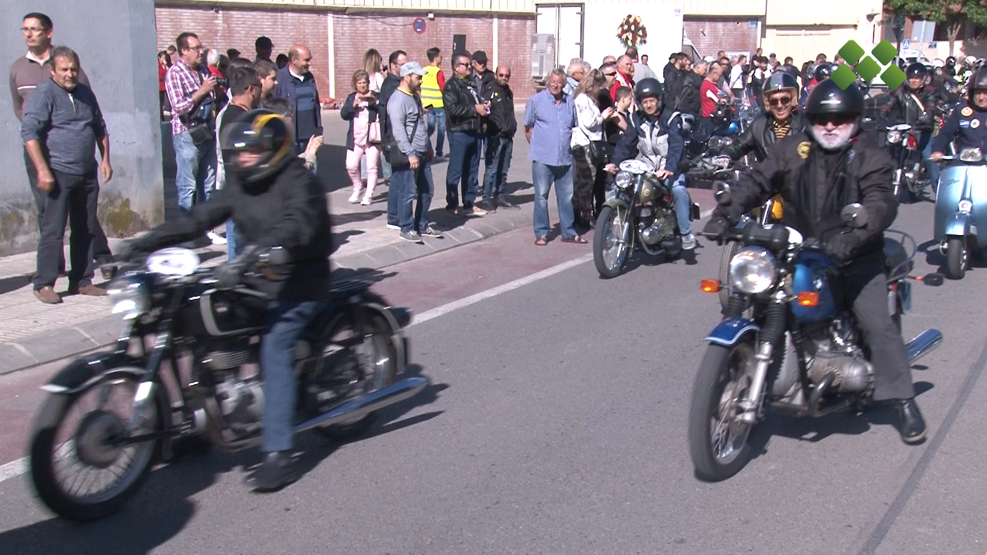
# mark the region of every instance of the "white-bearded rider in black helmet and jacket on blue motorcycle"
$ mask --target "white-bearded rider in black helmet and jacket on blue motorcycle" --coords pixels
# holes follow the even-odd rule
[[[807,132],[785,137],[764,162],[742,174],[703,233],[721,236],[751,208],[781,194],[782,223],[819,240],[829,256],[845,265],[839,277],[871,350],[873,398],[893,399],[902,440],[919,442],[926,425],[915,403],[905,344],[887,310],[883,230],[898,210],[891,189],[894,163],[882,148],[856,140],[864,117],[864,95],[857,85],[844,90],[831,79],[819,83],[805,115]],[[864,228],[843,225],[840,210],[853,202],[863,203],[870,216]]]

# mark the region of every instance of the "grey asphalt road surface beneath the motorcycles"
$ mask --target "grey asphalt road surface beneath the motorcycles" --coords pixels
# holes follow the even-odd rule
[[[894,227],[928,249],[932,205],[903,206]],[[532,241],[522,229],[400,265],[378,289],[426,310],[589,252]],[[241,485],[255,452],[213,451],[78,526],[48,514],[24,476],[4,481],[0,553],[983,553],[987,272],[915,288],[906,339],[946,337],[913,370],[924,444],[904,445],[887,409],[773,417],[750,464],[707,484],[685,437],[702,339],[720,319],[699,279],[716,277],[721,251],[701,244],[693,261],[642,259],[613,280],[575,264],[432,312],[409,333],[411,371],[433,385],[362,440],[299,437],[307,473],[278,493]],[[940,263],[920,253],[915,275]],[[5,402],[28,414],[23,390]]]

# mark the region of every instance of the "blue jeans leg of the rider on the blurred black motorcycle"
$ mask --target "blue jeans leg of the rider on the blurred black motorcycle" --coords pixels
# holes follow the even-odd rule
[[[267,305],[261,338],[261,371],[264,374],[264,439],[261,450],[285,451],[293,446],[295,394],[295,343],[305,326],[325,307],[316,301],[271,301]]]

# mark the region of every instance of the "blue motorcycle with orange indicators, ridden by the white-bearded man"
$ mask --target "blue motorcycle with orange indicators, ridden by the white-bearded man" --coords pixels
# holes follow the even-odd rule
[[[846,206],[841,215],[852,227],[867,225],[861,204]],[[903,232],[888,233],[900,236],[884,241],[888,310],[900,331],[911,304],[908,274],[916,245]],[[873,402],[873,366],[853,313],[836,300],[830,276],[838,266],[818,242],[789,227],[753,222],[726,236],[744,248],[730,262],[733,294],[721,324],[706,338],[710,345],[689,409],[689,451],[696,475],[708,481],[725,480],[746,465],[751,432],[768,410],[815,418],[863,411]],[[704,279],[702,289],[716,292],[719,286]],[[748,309],[751,317],[741,317]],[[938,330],[922,332],[908,343],[908,359],[914,362],[942,341]]]

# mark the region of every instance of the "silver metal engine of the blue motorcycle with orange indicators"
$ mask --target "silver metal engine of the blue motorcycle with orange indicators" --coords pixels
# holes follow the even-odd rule
[[[845,318],[837,318],[828,330],[811,337],[814,353],[807,353],[808,377],[819,383],[826,374],[836,379],[832,388],[840,393],[864,391],[873,383],[873,365],[858,347],[857,333]]]

